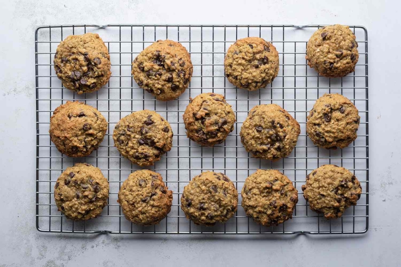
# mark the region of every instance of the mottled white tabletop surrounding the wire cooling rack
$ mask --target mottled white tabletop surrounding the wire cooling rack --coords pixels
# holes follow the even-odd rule
[[[20,0],[0,4],[0,266],[399,265],[399,2]],[[40,25],[85,23],[365,26],[369,231],[354,236],[39,233],[35,228],[34,31]]]

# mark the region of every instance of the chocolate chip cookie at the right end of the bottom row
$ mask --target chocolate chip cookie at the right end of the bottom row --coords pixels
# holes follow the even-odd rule
[[[306,176],[302,191],[310,208],[330,219],[341,217],[346,208],[356,205],[362,187],[349,170],[336,165],[322,165]]]

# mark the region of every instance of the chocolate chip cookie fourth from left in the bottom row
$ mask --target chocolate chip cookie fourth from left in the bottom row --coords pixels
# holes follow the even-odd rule
[[[298,191],[278,170],[257,170],[246,180],[241,191],[242,207],[247,216],[265,226],[292,218]]]

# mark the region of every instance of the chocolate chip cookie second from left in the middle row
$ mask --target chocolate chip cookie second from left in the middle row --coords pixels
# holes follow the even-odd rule
[[[172,135],[170,124],[159,114],[141,110],[117,123],[113,140],[121,155],[132,163],[149,166],[171,150]]]

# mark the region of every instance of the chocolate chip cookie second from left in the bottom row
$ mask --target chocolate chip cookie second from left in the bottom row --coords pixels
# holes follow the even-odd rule
[[[138,170],[121,185],[117,202],[127,220],[147,226],[159,223],[170,212],[172,191],[159,173]]]

